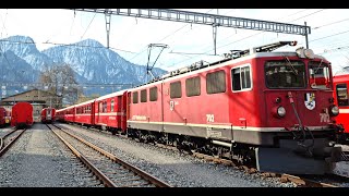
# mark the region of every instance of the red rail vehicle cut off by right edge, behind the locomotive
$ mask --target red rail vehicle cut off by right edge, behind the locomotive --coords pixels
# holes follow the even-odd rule
[[[338,124],[344,127],[342,134],[338,135],[339,143],[349,142],[349,73],[342,73],[334,76],[334,98],[335,103],[339,107],[339,114],[336,118]]]

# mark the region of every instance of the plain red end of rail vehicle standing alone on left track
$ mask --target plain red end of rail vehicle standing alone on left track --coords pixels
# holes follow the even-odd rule
[[[12,107],[11,126],[19,128],[33,125],[33,106],[29,102],[16,102]]]

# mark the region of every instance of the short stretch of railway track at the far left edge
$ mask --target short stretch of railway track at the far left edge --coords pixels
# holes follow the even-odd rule
[[[20,138],[26,128],[12,128],[9,133],[0,137],[0,157]]]

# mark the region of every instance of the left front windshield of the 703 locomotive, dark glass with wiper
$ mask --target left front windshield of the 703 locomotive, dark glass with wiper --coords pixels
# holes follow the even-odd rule
[[[305,64],[302,61],[268,61],[265,78],[268,88],[304,88]]]

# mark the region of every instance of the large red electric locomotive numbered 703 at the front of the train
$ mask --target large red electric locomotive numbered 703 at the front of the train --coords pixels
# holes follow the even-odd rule
[[[341,154],[330,143],[339,128],[330,62],[311,49],[272,52],[296,44],[232,51],[129,89],[128,134],[260,171],[330,172]]]

